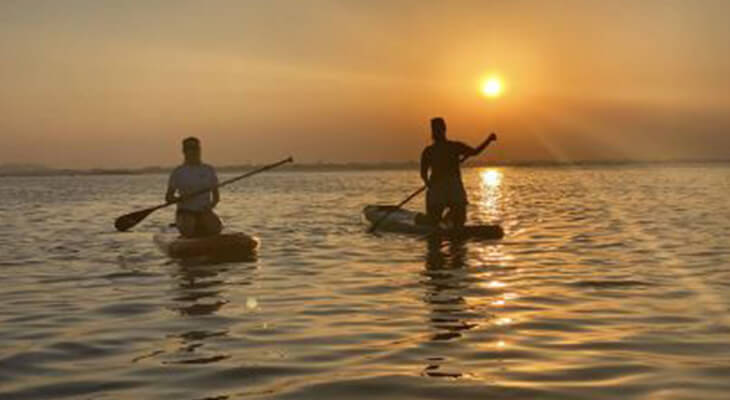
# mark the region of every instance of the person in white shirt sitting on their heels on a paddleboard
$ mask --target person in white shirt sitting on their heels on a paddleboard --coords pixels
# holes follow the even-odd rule
[[[220,201],[220,193],[215,187],[218,185],[218,176],[212,166],[202,162],[198,138],[186,138],[182,145],[185,161],[170,174],[165,201],[175,201],[198,190],[212,188],[177,203],[175,224],[184,237],[217,235],[223,229],[220,218],[213,212]],[[179,197],[175,196],[176,193]]]

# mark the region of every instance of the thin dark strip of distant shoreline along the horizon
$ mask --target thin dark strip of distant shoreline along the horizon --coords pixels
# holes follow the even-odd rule
[[[514,161],[514,162],[473,162],[466,168],[480,167],[600,167],[600,166],[656,166],[656,165],[691,165],[691,164],[730,164],[730,159],[688,159],[688,160],[601,160],[601,161]],[[219,172],[239,172],[260,167],[261,164],[216,166]],[[43,166],[0,165],[0,177],[11,176],[73,176],[73,175],[148,175],[167,174],[174,166],[144,168],[93,168],[69,169]],[[293,164],[280,167],[279,171],[289,172],[337,172],[337,171],[381,171],[418,169],[415,161],[386,163],[309,163]]]

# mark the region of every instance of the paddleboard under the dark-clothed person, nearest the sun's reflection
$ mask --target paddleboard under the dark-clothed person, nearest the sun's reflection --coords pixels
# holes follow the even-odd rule
[[[380,221],[386,214],[390,214],[380,222],[378,230],[385,232],[416,233],[422,235],[442,235],[465,239],[501,239],[504,231],[499,225],[467,225],[460,231],[437,229],[426,223],[423,213],[398,209],[391,205],[368,205],[363,209],[365,219],[371,224]]]

